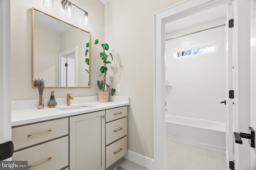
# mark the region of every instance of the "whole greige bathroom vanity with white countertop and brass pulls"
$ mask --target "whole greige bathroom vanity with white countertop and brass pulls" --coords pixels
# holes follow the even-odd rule
[[[104,170],[127,153],[128,105],[126,97],[12,111],[12,160],[35,170]]]

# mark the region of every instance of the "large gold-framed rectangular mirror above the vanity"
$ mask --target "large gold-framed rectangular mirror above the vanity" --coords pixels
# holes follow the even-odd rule
[[[90,87],[90,32],[32,8],[32,87]]]

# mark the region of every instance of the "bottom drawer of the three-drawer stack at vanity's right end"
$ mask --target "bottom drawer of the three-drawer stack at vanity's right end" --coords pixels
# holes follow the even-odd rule
[[[106,147],[106,168],[127,153],[127,136]]]

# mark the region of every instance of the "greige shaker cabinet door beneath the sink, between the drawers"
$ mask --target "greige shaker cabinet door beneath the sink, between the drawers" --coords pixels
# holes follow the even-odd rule
[[[70,170],[105,169],[105,111],[70,117]]]

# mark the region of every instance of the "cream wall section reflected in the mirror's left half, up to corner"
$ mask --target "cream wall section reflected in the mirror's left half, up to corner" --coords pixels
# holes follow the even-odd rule
[[[60,34],[34,26],[34,78],[43,78],[46,86],[59,84],[59,52]]]

